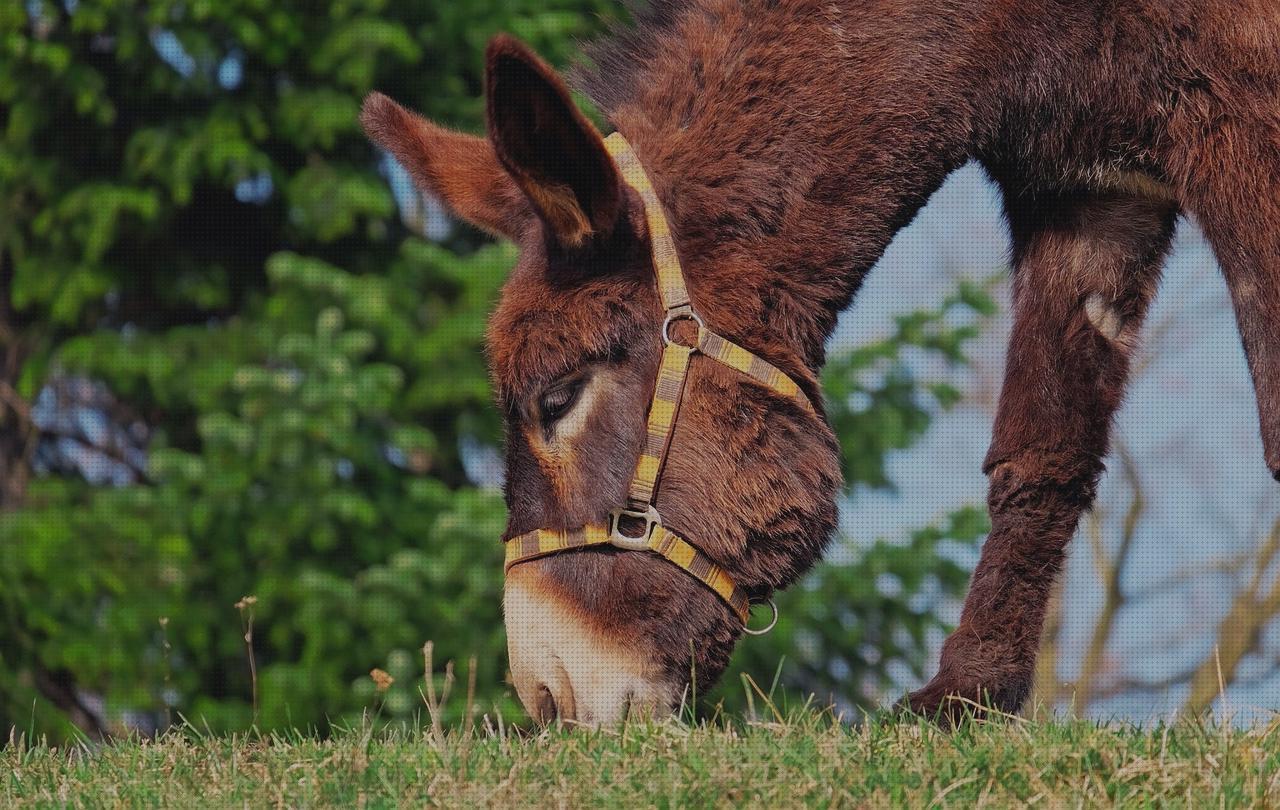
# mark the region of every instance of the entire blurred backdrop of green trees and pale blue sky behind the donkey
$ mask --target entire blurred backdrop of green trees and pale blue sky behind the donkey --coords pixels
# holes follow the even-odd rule
[[[564,65],[620,14],[0,4],[5,737],[425,723],[445,688],[443,722],[522,719],[483,354],[515,253],[415,192],[356,114],[378,88],[480,132],[493,33]],[[760,710],[755,682],[855,720],[929,674],[987,531],[1007,298],[998,197],[966,166],[832,338],[841,536],[701,711]],[[1135,722],[1280,708],[1277,550],[1226,292],[1183,223],[1036,700]]]

